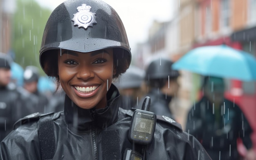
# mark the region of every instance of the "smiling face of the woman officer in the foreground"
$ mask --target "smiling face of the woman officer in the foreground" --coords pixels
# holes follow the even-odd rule
[[[106,107],[106,94],[115,68],[113,50],[79,53],[62,50],[58,54],[58,75],[67,96],[79,107]]]

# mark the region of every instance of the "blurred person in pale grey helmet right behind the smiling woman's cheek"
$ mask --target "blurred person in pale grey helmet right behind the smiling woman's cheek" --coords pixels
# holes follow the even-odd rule
[[[141,88],[144,80],[145,72],[138,67],[130,66],[118,81],[113,84],[119,89],[122,105],[121,107],[128,110],[137,105],[144,92]]]

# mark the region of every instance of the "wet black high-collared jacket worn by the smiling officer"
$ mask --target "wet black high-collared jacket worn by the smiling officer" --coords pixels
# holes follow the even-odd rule
[[[39,134],[54,136],[55,148],[51,143],[46,147],[54,151],[54,160],[122,160],[125,149],[132,149],[128,140],[132,110],[119,107],[119,92],[113,85],[107,98],[106,108],[84,110],[66,96],[64,112],[21,119],[18,123],[22,125],[16,125],[1,142],[0,159],[40,160],[38,124],[51,118],[54,132],[49,132],[46,125]],[[47,142],[47,136],[43,142]],[[178,123],[165,116],[158,116],[153,142],[146,147],[146,160],[156,159],[210,160],[193,136],[182,132]]]

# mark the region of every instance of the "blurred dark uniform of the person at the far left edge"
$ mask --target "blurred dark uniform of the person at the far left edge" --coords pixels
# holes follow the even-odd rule
[[[0,87],[0,141],[13,130],[18,119],[34,113],[34,98],[13,83]]]

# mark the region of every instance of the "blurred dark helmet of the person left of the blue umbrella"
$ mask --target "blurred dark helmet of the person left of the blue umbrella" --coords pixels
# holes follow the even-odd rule
[[[152,79],[167,79],[179,77],[180,73],[177,70],[172,69],[173,62],[169,59],[155,59],[146,69],[145,80],[150,81]]]

